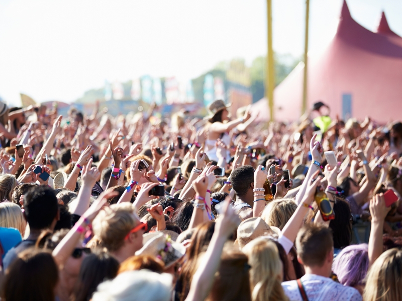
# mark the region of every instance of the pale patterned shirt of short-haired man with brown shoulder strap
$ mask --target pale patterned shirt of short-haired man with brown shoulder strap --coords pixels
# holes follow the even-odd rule
[[[362,301],[359,291],[350,286],[343,286],[329,277],[306,274],[302,278],[309,301]],[[283,290],[289,301],[303,301],[296,280],[282,282]]]

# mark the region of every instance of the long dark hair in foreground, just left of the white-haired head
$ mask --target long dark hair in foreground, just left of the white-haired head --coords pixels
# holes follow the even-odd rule
[[[79,269],[72,300],[90,300],[97,285],[105,280],[115,278],[118,270],[119,261],[106,252],[98,251],[86,256]]]

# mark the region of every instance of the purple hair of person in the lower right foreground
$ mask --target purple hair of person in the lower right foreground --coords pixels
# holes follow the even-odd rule
[[[345,286],[356,288],[363,294],[363,280],[369,267],[368,245],[366,243],[350,245],[344,248],[332,264],[333,272]]]

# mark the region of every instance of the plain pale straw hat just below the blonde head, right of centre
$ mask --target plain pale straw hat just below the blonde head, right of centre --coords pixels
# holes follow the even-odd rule
[[[239,227],[237,228],[237,242],[240,248],[242,248],[257,237],[265,235],[278,236],[279,234],[279,228],[268,226],[267,223],[260,217],[253,217],[248,218],[240,223]]]

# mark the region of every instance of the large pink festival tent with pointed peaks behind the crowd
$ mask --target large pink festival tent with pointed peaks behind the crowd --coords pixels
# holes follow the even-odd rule
[[[303,69],[300,63],[275,88],[276,120],[300,117]],[[344,2],[334,39],[323,54],[309,56],[308,72],[309,109],[321,100],[331,107],[332,117],[368,115],[380,122],[402,118],[402,38],[390,30],[384,13],[373,33],[352,19]],[[266,100],[253,109],[268,112]]]

